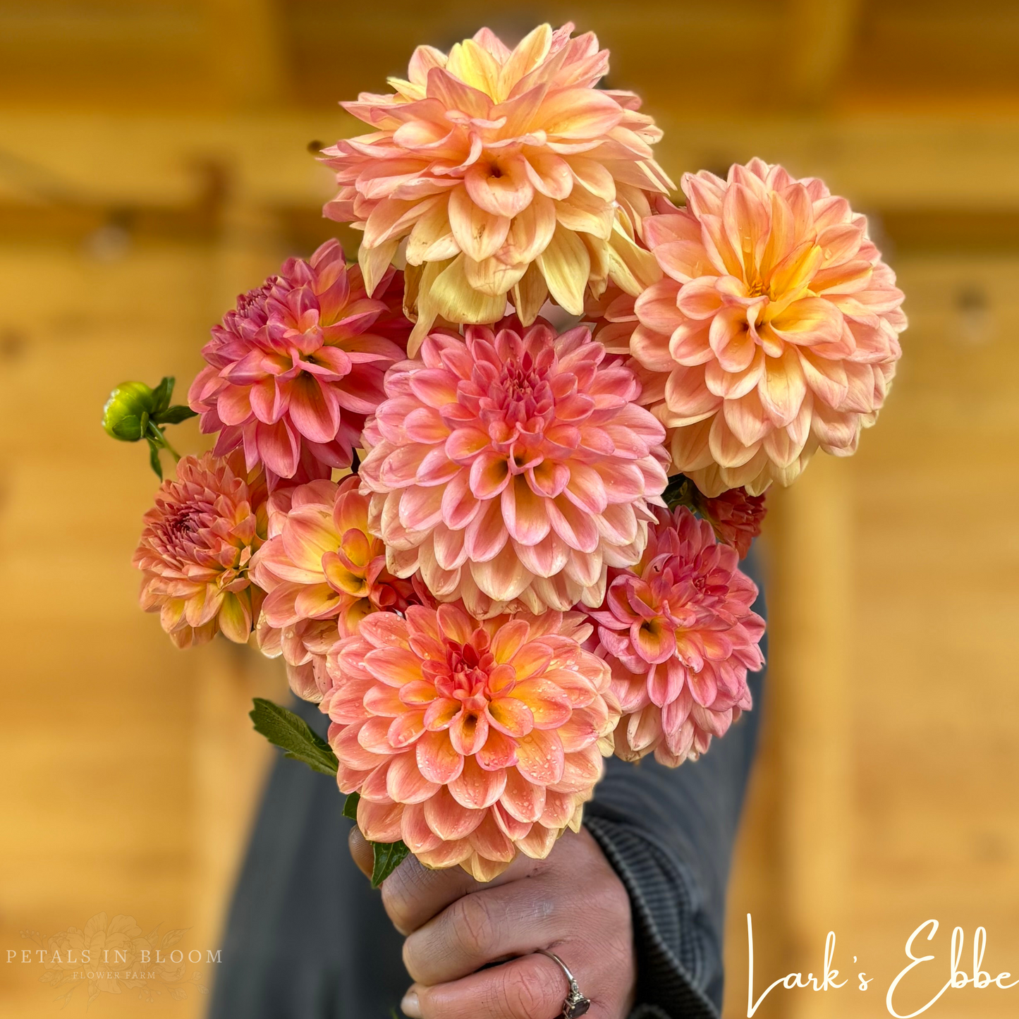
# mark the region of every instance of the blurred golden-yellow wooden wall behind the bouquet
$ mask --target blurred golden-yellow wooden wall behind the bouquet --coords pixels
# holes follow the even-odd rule
[[[164,372],[184,385],[233,294],[329,235],[307,146],[350,132],[337,99],[381,89],[419,41],[571,14],[612,48],[614,86],[647,97],[676,175],[756,154],[871,213],[912,321],[860,453],[815,461],[772,500],[727,1016],[746,1015],[748,911],[758,994],[818,972],[829,929],[835,964],[874,978],[779,988],[765,1019],[886,1015],[931,917],[937,959],[903,1011],[947,978],[956,924],[964,966],[982,924],[985,968],[1019,970],[1014,4],[15,0],[0,2],[4,1016],[59,1011],[40,965],[6,962],[31,948],[22,931],[105,911],[217,944],[267,760],[248,704],[282,685],[225,642],[174,651],[137,610],[154,479],[100,430],[107,391]],[[199,988],[165,989],[152,1014],[202,1014]],[[928,1014],[1012,1016],[1017,996],[953,990]],[[147,1008],[100,994],[90,1011]]]

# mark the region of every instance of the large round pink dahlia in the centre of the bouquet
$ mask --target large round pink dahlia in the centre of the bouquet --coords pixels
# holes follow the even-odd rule
[[[587,329],[432,334],[365,429],[362,491],[389,570],[481,619],[598,605],[644,550],[664,430]]]

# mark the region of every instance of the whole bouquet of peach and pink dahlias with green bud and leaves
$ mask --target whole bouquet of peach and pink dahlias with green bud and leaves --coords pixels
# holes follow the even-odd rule
[[[873,424],[906,319],[863,216],[754,159],[681,180],[593,35],[423,46],[324,151],[363,231],[237,299],[189,407],[118,387],[146,439],[201,415],[145,519],[142,605],[179,647],[281,655],[375,844],[492,878],[577,829],[602,758],[676,766],[751,707],[740,559],[764,493]],[[176,454],[174,453],[174,457]]]

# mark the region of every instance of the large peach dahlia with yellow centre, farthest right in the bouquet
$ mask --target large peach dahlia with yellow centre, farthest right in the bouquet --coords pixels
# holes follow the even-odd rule
[[[812,453],[854,452],[906,327],[865,217],[815,178],[754,159],[686,174],[686,209],[644,223],[664,278],[636,302],[631,348],[675,470],[707,495],[788,485]]]

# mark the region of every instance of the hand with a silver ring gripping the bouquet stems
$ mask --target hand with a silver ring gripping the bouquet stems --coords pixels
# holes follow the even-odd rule
[[[370,873],[371,848],[356,827],[351,852]],[[415,982],[400,1007],[411,1019],[554,1019],[570,987],[536,949],[571,969],[593,1019],[625,1019],[633,1007],[630,898],[586,828],[568,830],[547,859],[518,857],[487,884],[409,857],[383,882],[382,904],[407,935]]]

